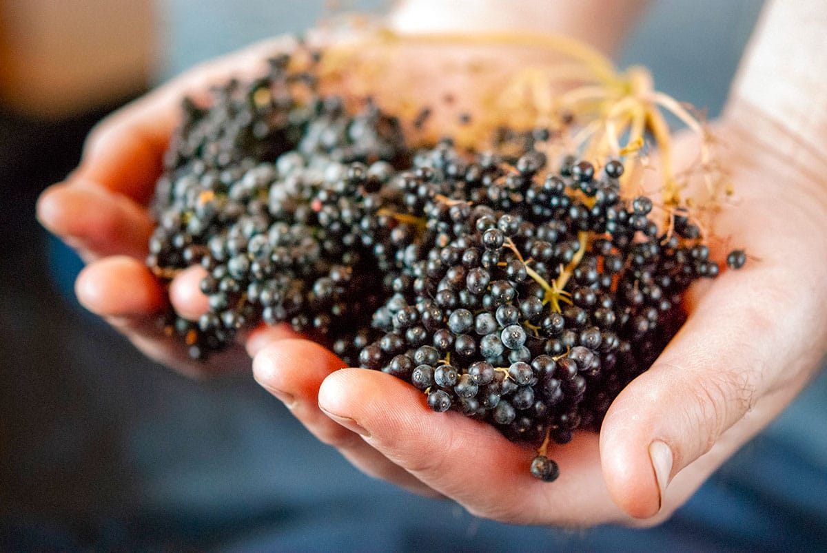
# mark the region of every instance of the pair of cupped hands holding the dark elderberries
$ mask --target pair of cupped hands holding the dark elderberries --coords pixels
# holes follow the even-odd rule
[[[188,375],[252,365],[259,384],[366,474],[451,498],[481,517],[565,527],[662,521],[815,374],[827,344],[827,236],[818,231],[827,220],[827,174],[776,155],[773,141],[794,137],[779,137],[764,114],[738,105],[714,124],[735,199],[717,215],[719,239],[710,246],[717,260],[743,248],[748,263],[691,288],[686,324],[619,394],[600,434],[581,431],[550,446],[560,465],[554,483],[529,474],[532,447],[460,413],[430,411],[421,392],[389,374],[342,368],[287,327],[262,326],[206,363],[190,360],[157,317],[169,303],[189,318],[206,310],[203,269],[187,269],[167,287],[145,265],[154,226],[147,205],[180,100],[258,74],[269,55],[292,47],[289,39],[256,45],[123,107],[90,134],[79,167],[40,198],[37,217],[87,264],[75,283],[80,303],[144,354]],[[440,51],[450,59],[461,50]],[[397,65],[428,74],[428,63],[409,55]],[[429,81],[420,80],[428,98]],[[772,141],[762,132],[771,128]],[[695,158],[696,138],[676,136],[672,145],[677,168]]]

